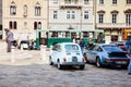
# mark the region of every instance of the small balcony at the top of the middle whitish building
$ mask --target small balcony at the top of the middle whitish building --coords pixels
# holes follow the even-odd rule
[[[82,2],[71,2],[71,1],[61,1],[60,3],[60,8],[61,9],[66,9],[66,8],[76,8],[76,9],[81,9],[82,8]]]

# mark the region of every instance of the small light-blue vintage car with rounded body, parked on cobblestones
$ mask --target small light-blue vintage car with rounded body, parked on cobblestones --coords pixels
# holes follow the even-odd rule
[[[57,64],[60,70],[64,65],[80,66],[80,70],[84,70],[85,60],[83,58],[81,47],[74,42],[61,42],[56,44],[52,47],[52,52],[49,55],[49,64]]]

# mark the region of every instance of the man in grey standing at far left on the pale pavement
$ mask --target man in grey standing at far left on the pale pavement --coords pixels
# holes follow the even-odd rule
[[[7,33],[7,37],[5,37],[5,41],[8,44],[7,52],[11,52],[11,46],[13,45],[14,41],[13,33],[9,28],[5,28],[4,30]]]

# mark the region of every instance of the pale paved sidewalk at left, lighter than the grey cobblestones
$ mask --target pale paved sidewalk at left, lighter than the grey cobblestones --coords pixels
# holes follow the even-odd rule
[[[13,51],[14,50],[14,51]],[[13,49],[7,52],[7,44],[0,41],[0,64],[26,65],[26,64],[47,64],[49,51],[46,51],[46,61],[41,59],[40,50],[20,50]]]

